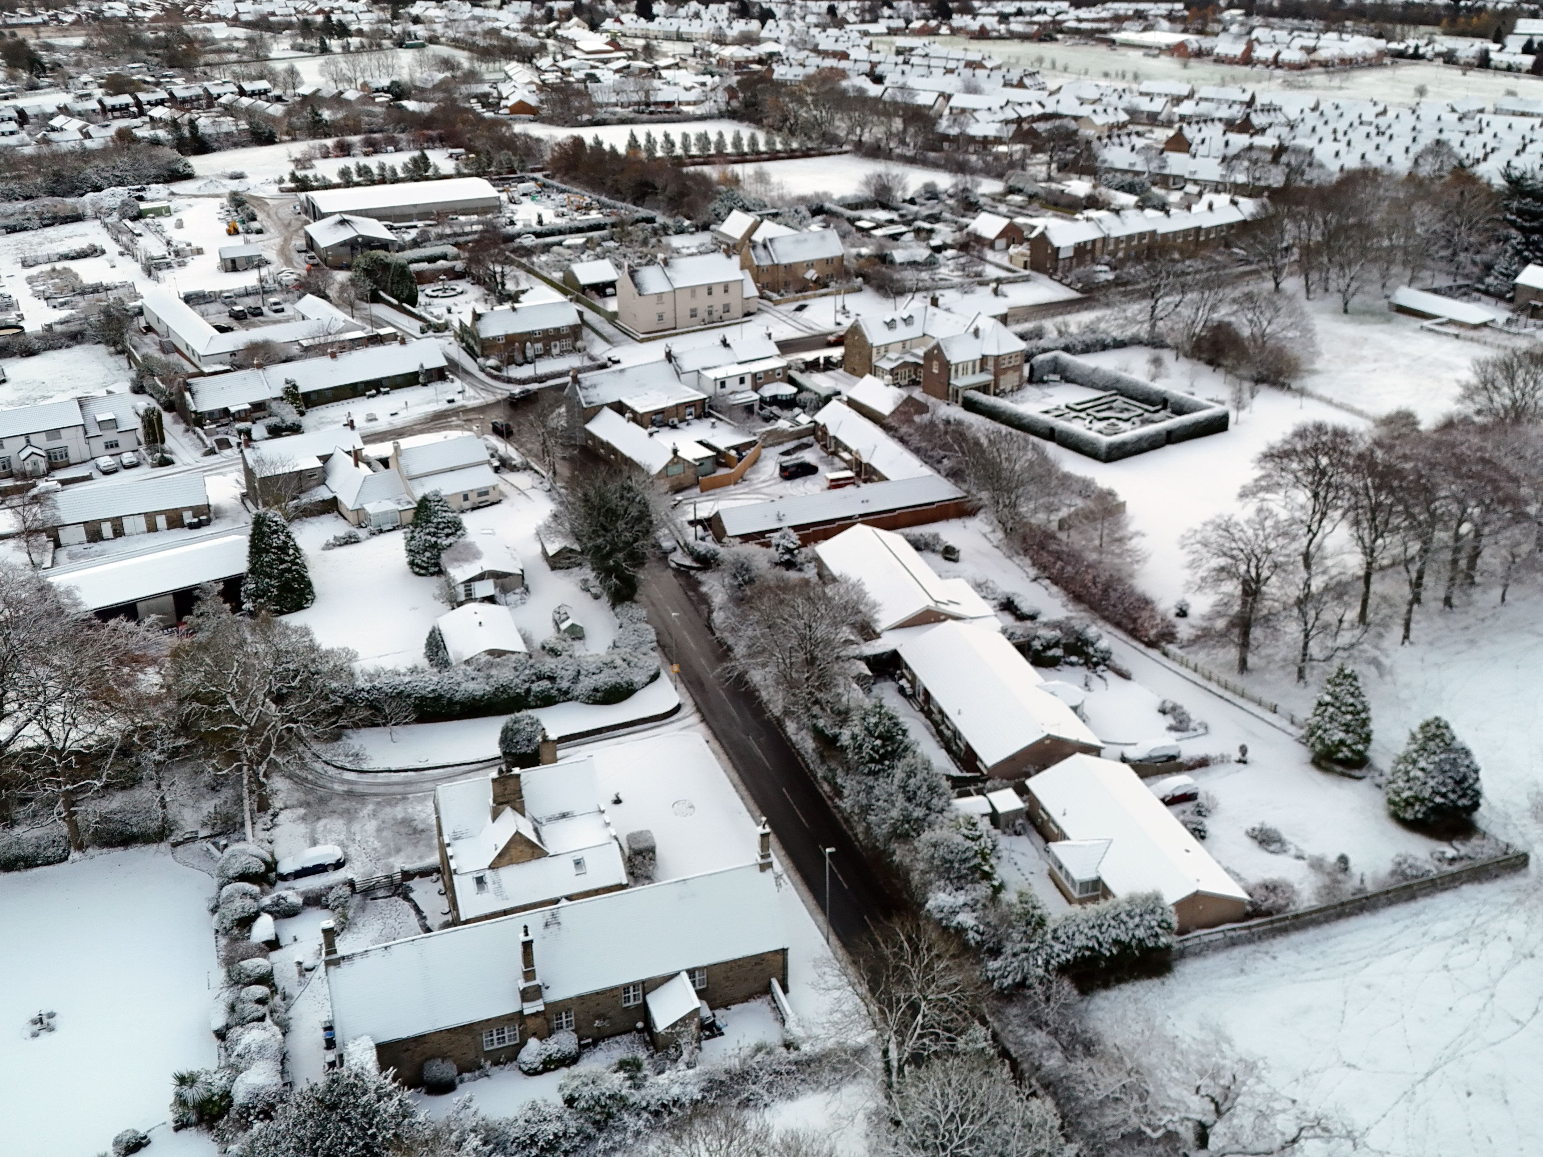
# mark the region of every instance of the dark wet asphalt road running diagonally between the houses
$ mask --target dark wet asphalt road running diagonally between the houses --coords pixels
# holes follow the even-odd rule
[[[756,807],[772,824],[790,867],[809,895],[826,902],[826,856],[830,855],[830,927],[849,950],[873,924],[900,912],[886,873],[863,855],[836,818],[813,774],[782,737],[756,694],[725,674],[730,654],[707,626],[693,580],[668,566],[651,565],[640,602],[659,631],[665,654],[680,665],[697,710],[739,773]]]

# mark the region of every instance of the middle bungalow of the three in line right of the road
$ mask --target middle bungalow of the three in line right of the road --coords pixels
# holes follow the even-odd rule
[[[1103,744],[1000,631],[940,623],[900,646],[910,694],[961,768],[1018,779]]]

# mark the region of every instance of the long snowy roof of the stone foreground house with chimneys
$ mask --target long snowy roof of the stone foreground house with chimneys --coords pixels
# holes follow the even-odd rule
[[[548,1006],[785,950],[776,890],[748,862],[378,944],[327,969],[333,1023],[344,1041],[384,1043],[511,1015],[525,929]]]

